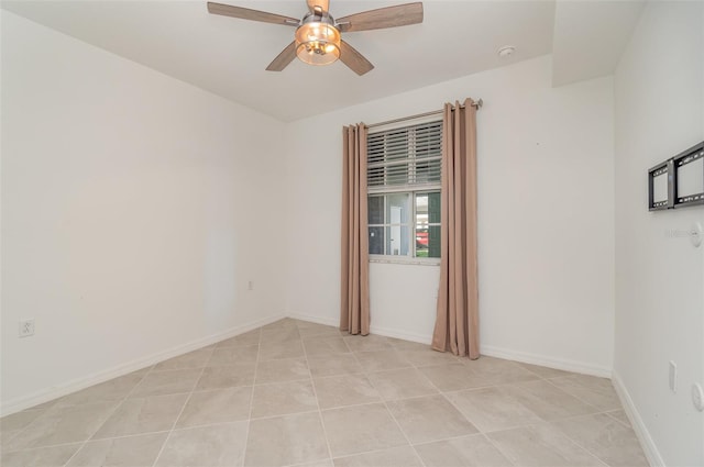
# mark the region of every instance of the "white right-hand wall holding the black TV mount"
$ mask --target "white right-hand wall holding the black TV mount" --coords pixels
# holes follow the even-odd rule
[[[704,248],[686,237],[704,208],[648,212],[646,174],[704,140],[703,7],[648,4],[615,75],[614,379],[651,460],[670,466],[704,465],[704,413],[690,398],[692,383],[704,382]],[[678,364],[676,393],[669,360]]]

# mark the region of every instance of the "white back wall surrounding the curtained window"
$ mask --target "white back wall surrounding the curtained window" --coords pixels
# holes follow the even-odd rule
[[[559,89],[550,82],[550,57],[540,57],[289,124],[288,312],[338,322],[342,126],[483,98],[477,123],[483,352],[608,375],[613,79]],[[438,268],[373,264],[371,276],[372,330],[429,341]]]

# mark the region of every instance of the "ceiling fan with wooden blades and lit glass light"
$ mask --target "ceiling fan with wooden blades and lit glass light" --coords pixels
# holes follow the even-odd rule
[[[363,11],[336,20],[328,11],[329,0],[307,0],[308,13],[302,20],[250,10],[249,8],[208,2],[208,12],[242,20],[295,26],[295,40],[282,51],[266,69],[280,71],[297,56],[310,65],[329,65],[338,58],[362,76],[374,65],[340,37],[341,33],[381,30],[422,23],[422,3]]]

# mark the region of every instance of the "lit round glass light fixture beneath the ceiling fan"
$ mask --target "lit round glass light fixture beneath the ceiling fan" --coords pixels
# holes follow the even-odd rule
[[[296,56],[309,65],[330,65],[340,58],[340,31],[321,21],[296,30]]]

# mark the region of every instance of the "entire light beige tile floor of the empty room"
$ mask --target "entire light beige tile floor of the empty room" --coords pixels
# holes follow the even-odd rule
[[[14,466],[647,466],[610,381],[285,319],[0,420]]]

